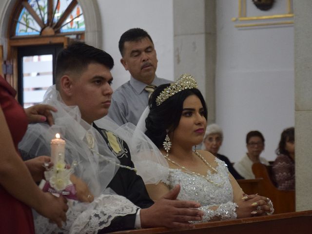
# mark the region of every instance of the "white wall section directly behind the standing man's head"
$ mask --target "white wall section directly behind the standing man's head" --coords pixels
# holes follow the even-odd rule
[[[172,0],[98,0],[102,18],[103,49],[115,60],[113,89],[130,79],[120,63],[122,33],[139,27],[152,37],[158,59],[156,75],[174,80],[174,27]]]

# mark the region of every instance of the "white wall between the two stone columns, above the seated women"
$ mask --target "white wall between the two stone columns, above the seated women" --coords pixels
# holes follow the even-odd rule
[[[281,9],[285,1],[275,1],[272,10]],[[216,12],[220,153],[237,161],[246,152],[246,134],[259,130],[266,139],[262,156],[273,160],[282,130],[294,126],[293,25],[237,29],[231,19],[238,0],[217,0]]]

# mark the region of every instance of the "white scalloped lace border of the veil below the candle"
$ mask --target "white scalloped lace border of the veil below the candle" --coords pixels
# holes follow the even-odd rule
[[[74,203],[78,203],[74,201]],[[85,210],[83,208],[85,207]],[[92,203],[79,203],[71,206],[66,215],[67,221],[60,229],[56,224],[41,215],[35,219],[38,234],[97,234],[108,227],[118,216],[136,214],[138,207],[120,195],[100,195]]]

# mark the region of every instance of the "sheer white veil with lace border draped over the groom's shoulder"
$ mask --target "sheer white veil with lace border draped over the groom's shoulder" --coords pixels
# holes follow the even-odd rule
[[[37,123],[28,126],[19,144],[24,159],[40,155],[49,156],[50,141],[55,138],[56,133],[59,133],[66,142],[66,163],[77,162],[74,174],[87,183],[95,199],[92,203],[73,201],[66,214],[67,222],[62,229],[38,215],[35,218],[36,232],[97,233],[98,230],[109,226],[116,216],[135,214],[137,206],[125,197],[115,195],[113,191],[106,189],[117,172],[119,160],[108,148],[104,138],[81,119],[77,106],[67,106],[62,101],[55,86],[47,90],[43,103],[52,105],[58,110],[53,113],[55,124],[49,126]],[[92,153],[90,148],[98,154]]]

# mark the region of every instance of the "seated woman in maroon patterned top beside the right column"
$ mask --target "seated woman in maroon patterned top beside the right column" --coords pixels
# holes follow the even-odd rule
[[[280,190],[294,189],[294,128],[287,128],[281,134],[273,163],[273,179]]]

